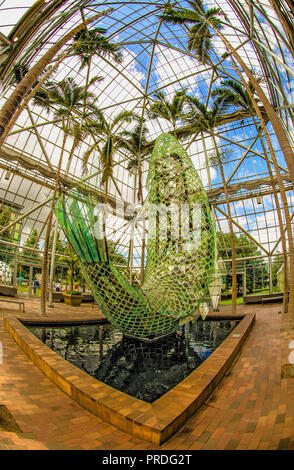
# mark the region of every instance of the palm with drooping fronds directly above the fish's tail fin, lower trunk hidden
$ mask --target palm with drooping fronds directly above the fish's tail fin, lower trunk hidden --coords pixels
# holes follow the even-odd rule
[[[122,140],[119,129],[123,124],[130,124],[134,119],[138,119],[138,116],[133,111],[121,111],[110,120],[96,109],[96,119],[97,122],[89,124],[94,142],[83,155],[83,167],[86,172],[89,158],[97,150],[102,168],[101,183],[104,185],[104,200],[107,203],[109,179],[113,179],[114,155],[119,150]]]

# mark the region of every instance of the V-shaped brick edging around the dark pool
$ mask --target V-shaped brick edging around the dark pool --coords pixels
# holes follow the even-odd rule
[[[28,331],[18,318],[3,314],[6,330],[55,385],[102,420],[157,445],[175,434],[209,397],[232,365],[255,322],[255,314],[245,315],[195,371],[150,404],[98,381],[67,362]]]

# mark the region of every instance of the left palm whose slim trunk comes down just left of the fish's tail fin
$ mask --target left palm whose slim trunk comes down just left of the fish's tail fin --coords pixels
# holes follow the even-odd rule
[[[56,172],[55,186],[53,190],[53,202],[50,209],[48,218],[47,230],[44,242],[44,254],[42,264],[42,282],[41,282],[41,306],[40,313],[46,313],[46,292],[47,292],[47,265],[48,265],[48,249],[51,234],[51,225],[53,218],[53,210],[55,198],[58,193],[58,185],[61,173],[61,165],[64,157],[65,146],[67,139],[70,135],[74,135],[72,149],[67,163],[67,169],[73,155],[73,151],[80,142],[81,133],[74,134],[77,127],[76,123],[76,110],[84,109],[86,102],[91,108],[93,95],[85,89],[85,87],[78,86],[74,80],[69,77],[61,82],[49,82],[42,91],[39,91],[34,97],[34,104],[43,107],[47,112],[53,111],[55,119],[61,119],[63,140],[61,144],[58,168]],[[79,136],[79,137],[78,137]]]

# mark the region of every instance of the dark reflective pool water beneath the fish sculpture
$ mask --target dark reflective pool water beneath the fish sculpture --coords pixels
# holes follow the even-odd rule
[[[154,343],[123,337],[110,324],[26,326],[88,374],[152,403],[205,361],[237,324],[238,320],[198,320]]]

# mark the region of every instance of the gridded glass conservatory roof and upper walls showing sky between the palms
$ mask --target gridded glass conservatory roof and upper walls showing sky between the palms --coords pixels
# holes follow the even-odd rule
[[[91,77],[100,76],[91,88],[96,106],[111,121],[121,111],[134,111],[145,118],[147,140],[152,142],[162,132],[172,130],[163,119],[151,119],[149,109],[156,100],[155,93],[163,92],[168,99],[186,90],[204,104],[211,106],[212,92],[224,79],[239,80],[231,56],[224,44],[214,39],[211,65],[200,65],[187,49],[187,28],[163,23],[159,19],[163,1],[97,1],[97,0],[0,0],[0,79],[1,104],[13,89],[12,69],[16,63],[34,64],[44,52],[66,32],[97,12],[112,10],[94,26],[107,29],[107,37],[119,44],[123,60],[94,56]],[[188,8],[185,1],[172,2]],[[287,132],[293,126],[294,64],[291,50],[294,7],[292,1],[217,0],[207,6],[221,7],[225,17],[223,34],[230,41],[257,78],[273,106],[283,119]],[[21,6],[20,6],[21,5]],[[93,27],[93,24],[90,28]],[[254,38],[254,40],[252,39]],[[66,46],[68,47],[68,45]],[[63,52],[66,48],[63,49]],[[56,56],[57,60],[59,56]],[[54,65],[54,61],[51,65]],[[80,67],[77,57],[65,57],[54,80],[72,77],[77,84],[86,81],[87,69]],[[130,130],[132,124],[127,125]],[[177,127],[185,126],[178,119]],[[287,190],[291,214],[293,188],[287,165],[271,125],[267,125],[271,142]],[[231,213],[236,234],[246,233],[254,240],[261,254],[281,252],[280,231],[269,171],[265,160],[268,147],[260,126],[248,114],[231,109],[214,128],[223,159],[229,189]],[[30,102],[0,149],[0,203],[5,200],[24,214],[50,198],[62,145],[61,123],[51,112],[45,112]],[[63,159],[61,186],[64,190],[84,181],[88,189],[102,200],[99,154],[94,151],[87,172],[83,172],[82,157],[92,145],[91,137],[79,145],[69,168]],[[198,132],[184,137],[182,145],[188,151],[214,207],[216,230],[228,233],[224,185],[219,168],[212,165],[212,137]],[[71,141],[66,143],[67,157]],[[268,155],[271,159],[270,155]],[[137,202],[138,178],[128,169],[130,155],[125,150],[115,154],[113,178],[109,183],[109,204],[117,200],[124,205]],[[144,197],[148,160],[142,157]],[[272,171],[275,175],[274,167]],[[275,180],[276,182],[276,180]],[[277,188],[278,189],[278,188]],[[23,221],[22,245],[31,231],[42,227],[49,214],[49,203],[29,214]],[[141,225],[120,213],[108,217],[108,235],[123,254],[128,253],[130,236],[134,233],[134,264],[140,264]],[[1,238],[1,235],[0,235]],[[40,247],[42,248],[42,236]],[[229,252],[228,252],[229,256]]]

